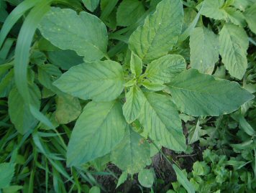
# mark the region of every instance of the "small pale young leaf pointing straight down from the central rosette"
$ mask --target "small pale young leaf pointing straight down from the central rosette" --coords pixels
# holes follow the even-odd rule
[[[127,123],[132,123],[140,115],[142,106],[145,103],[145,97],[142,90],[137,85],[130,88],[125,95],[126,102],[123,105],[124,118]]]

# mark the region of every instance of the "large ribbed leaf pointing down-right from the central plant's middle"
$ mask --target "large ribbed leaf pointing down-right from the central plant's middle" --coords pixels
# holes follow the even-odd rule
[[[170,96],[145,93],[145,98],[145,106],[140,113],[139,121],[150,138],[159,141],[168,149],[185,150],[186,139],[181,120]]]

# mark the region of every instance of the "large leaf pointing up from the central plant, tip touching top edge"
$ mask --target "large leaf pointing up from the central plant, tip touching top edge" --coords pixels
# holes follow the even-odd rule
[[[166,55],[176,44],[183,23],[183,7],[180,0],[163,0],[150,14],[143,26],[129,38],[129,48],[144,62]]]

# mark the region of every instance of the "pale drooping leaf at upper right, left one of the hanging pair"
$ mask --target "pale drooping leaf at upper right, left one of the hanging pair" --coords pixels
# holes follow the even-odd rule
[[[191,67],[199,72],[211,74],[219,60],[218,37],[205,27],[196,27],[190,37]]]

